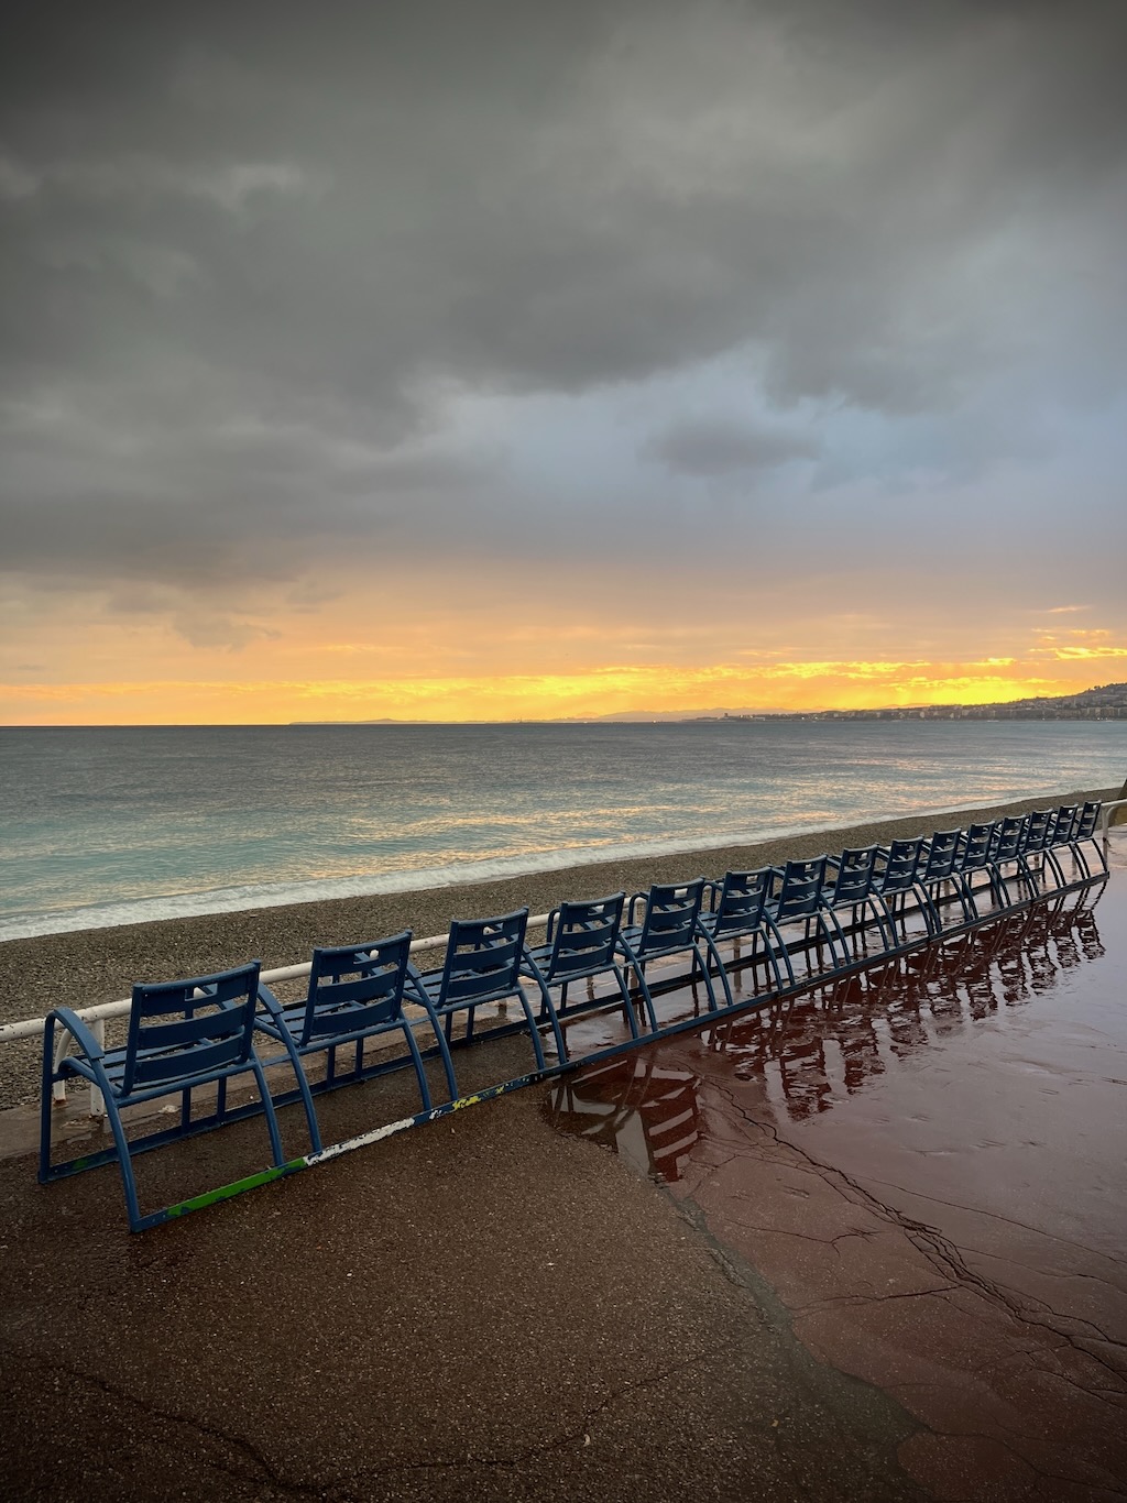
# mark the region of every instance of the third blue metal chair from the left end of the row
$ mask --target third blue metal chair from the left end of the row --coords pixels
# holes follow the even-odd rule
[[[544,1046],[539,1042],[538,1019],[523,986],[521,969],[526,969],[527,951],[524,932],[529,911],[518,908],[496,918],[455,918],[446,939],[446,959],[433,971],[416,971],[412,975],[422,995],[431,1004],[436,1019],[443,1025],[446,1045],[473,1043],[478,1009],[487,1003],[506,1003],[515,996],[520,1003],[527,1031],[532,1036],[532,1051],[536,1069],[545,1070]],[[536,980],[535,969],[532,978]],[[539,984],[539,983],[538,983]],[[567,1058],[567,1046],[560,1033],[556,1009],[547,986],[539,986],[541,1013],[551,1025],[560,1060]],[[466,1015],[466,1031],[454,1037],[454,1019]],[[499,1037],[523,1030],[523,1024],[500,1024],[478,1037]]]

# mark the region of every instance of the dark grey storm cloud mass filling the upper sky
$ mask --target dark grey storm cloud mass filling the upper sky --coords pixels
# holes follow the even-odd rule
[[[1019,371],[969,422],[1004,449],[1019,398],[1124,379],[1125,17],[21,6],[9,567],[292,576],[316,538],[440,549],[506,507],[533,552],[503,446],[443,437],[458,394],[591,392],[744,346],[778,409],[939,413],[954,448]],[[819,448],[676,413],[651,431],[672,478]]]

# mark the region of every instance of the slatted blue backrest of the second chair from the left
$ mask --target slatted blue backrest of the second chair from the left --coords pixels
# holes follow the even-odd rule
[[[371,944],[314,950],[299,1045],[400,1019],[409,956],[410,929]]]

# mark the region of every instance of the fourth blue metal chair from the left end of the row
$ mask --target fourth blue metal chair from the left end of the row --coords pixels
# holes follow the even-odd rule
[[[619,965],[618,941],[625,900],[625,893],[612,893],[610,897],[560,903],[553,908],[548,914],[545,942],[527,945],[524,950],[524,971],[536,981],[541,996],[550,987],[559,987],[556,1018],[560,1022],[621,1004],[631,1037],[639,1039],[634,1004]],[[618,996],[592,993],[582,1003],[568,1003],[568,987],[573,981],[594,981],[600,975],[613,977]],[[550,1022],[542,1013],[541,1018]],[[568,1055],[564,1054],[560,1058],[567,1060]]]

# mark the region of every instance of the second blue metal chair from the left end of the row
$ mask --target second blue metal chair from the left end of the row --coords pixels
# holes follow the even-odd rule
[[[258,999],[266,1012],[266,1016],[260,1015],[257,1019],[258,1031],[286,1049],[286,1055],[279,1055],[278,1060],[289,1057],[293,1066],[314,1153],[322,1150],[313,1106],[313,1094],[317,1091],[331,1091],[338,1085],[370,1081],[389,1070],[413,1066],[422,1109],[430,1111],[427,1072],[415,1039],[415,1028],[421,1025],[428,1024],[434,1031],[451,1100],[458,1094],[442,1027],[434,1016],[430,996],[418,986],[410,968],[410,929],[386,939],[314,950],[310,987],[304,1001],[283,1004],[266,986],[258,987]],[[424,1016],[409,1018],[404,1012],[406,1001],[415,1001]],[[407,1054],[382,1055],[365,1063],[368,1040],[388,1034],[406,1040]],[[338,1051],[352,1055],[352,1064],[344,1072],[337,1067]],[[325,1055],[325,1075],[311,1082],[302,1061],[316,1054]],[[278,1060],[266,1063],[276,1064]],[[275,1103],[279,1105],[287,1099],[276,1096]]]

